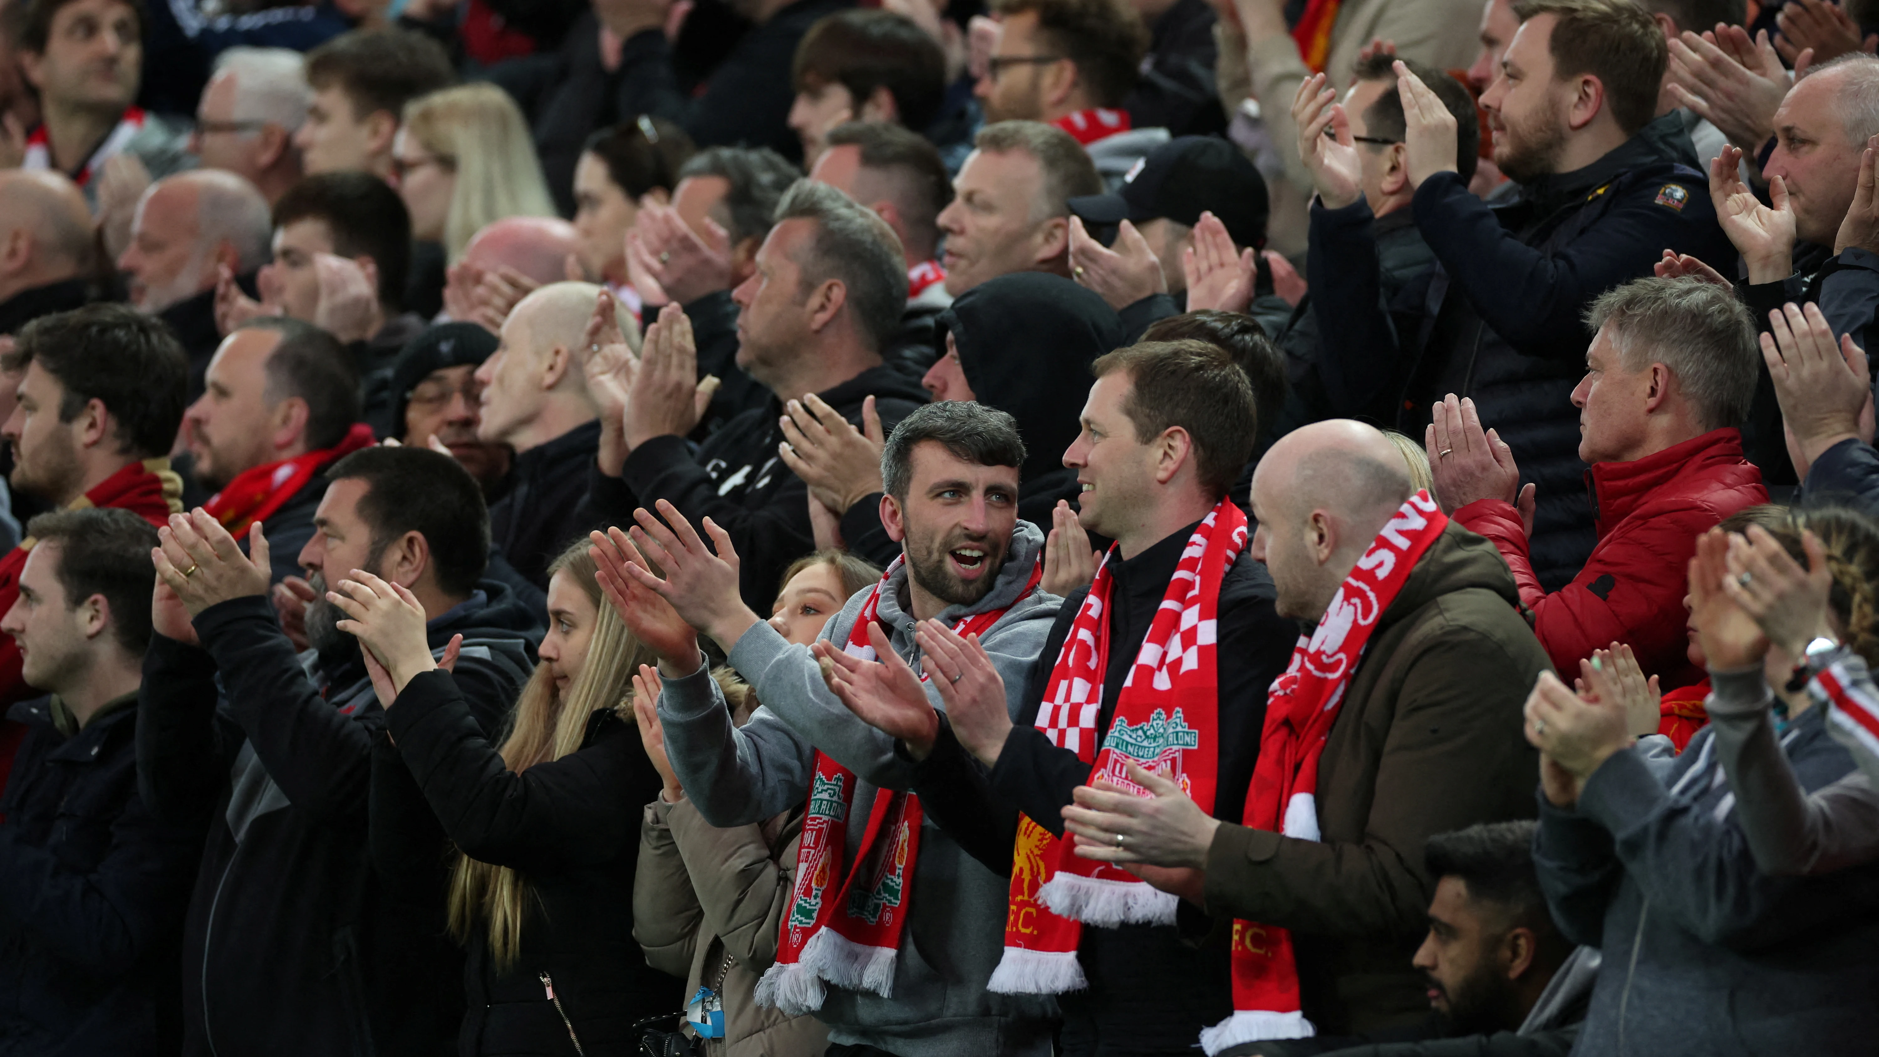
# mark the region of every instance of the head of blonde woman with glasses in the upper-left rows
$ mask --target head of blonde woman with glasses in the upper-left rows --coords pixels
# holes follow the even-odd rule
[[[458,85],[404,105],[391,169],[412,239],[457,260],[470,235],[505,216],[556,216],[528,122],[494,85]]]

